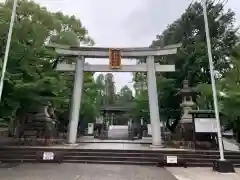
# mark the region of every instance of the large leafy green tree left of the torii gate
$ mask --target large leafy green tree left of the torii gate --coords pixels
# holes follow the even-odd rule
[[[12,3],[9,0],[0,8],[0,60],[4,56]],[[27,113],[49,101],[58,110],[68,111],[72,73],[53,69],[56,54],[46,48],[48,43],[91,45],[93,41],[76,17],[52,13],[33,1],[20,0],[0,103],[1,117],[13,117],[17,109]],[[86,74],[85,81],[94,83],[92,76]],[[89,91],[86,88],[84,92]]]

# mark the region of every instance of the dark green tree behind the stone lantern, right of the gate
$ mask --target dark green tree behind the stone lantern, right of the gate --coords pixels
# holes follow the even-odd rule
[[[234,29],[234,12],[226,12],[222,3],[212,0],[208,1],[207,9],[214,66],[217,78],[221,78],[231,68],[229,56],[238,40]],[[220,15],[220,20],[215,21]],[[177,55],[156,60],[161,64],[174,62],[176,65],[174,73],[157,74],[160,112],[163,117],[168,117],[169,111],[174,117],[180,116],[181,98],[177,92],[182,87],[183,80],[188,79],[190,86],[210,83],[201,3],[191,4],[179,19],[170,24],[161,35],[157,35],[151,46],[159,47],[179,42],[182,43],[182,47]]]

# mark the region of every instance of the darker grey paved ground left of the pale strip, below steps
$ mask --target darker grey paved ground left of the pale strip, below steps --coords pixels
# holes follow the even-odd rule
[[[0,180],[177,180],[158,167],[93,164],[22,164],[0,168]]]

